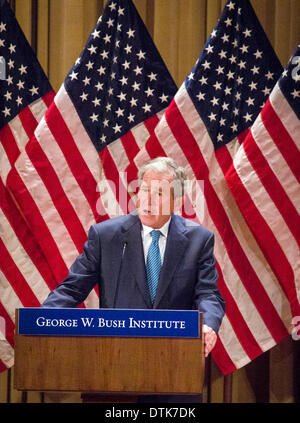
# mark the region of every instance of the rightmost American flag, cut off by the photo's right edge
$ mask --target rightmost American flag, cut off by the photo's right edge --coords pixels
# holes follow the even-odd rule
[[[299,65],[300,45],[225,175],[294,319],[300,316]]]

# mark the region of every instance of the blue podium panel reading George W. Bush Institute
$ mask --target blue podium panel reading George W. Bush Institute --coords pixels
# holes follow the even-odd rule
[[[20,308],[18,333],[199,338],[199,311]]]

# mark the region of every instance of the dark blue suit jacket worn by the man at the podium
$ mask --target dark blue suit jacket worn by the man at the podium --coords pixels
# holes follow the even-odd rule
[[[42,307],[76,307],[98,284],[101,308],[199,309],[204,323],[218,332],[225,304],[217,288],[213,247],[211,232],[172,215],[152,304],[139,217],[129,214],[107,220],[90,228],[83,253]]]

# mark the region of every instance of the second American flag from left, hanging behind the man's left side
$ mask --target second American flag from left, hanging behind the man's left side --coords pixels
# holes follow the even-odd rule
[[[127,213],[122,172],[176,91],[132,1],[109,1],[8,178],[56,280],[92,224]]]

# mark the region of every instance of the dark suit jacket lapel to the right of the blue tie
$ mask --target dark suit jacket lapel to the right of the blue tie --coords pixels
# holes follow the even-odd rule
[[[188,239],[184,235],[184,232],[184,225],[177,219],[176,215],[173,215],[170,222],[164,262],[161,268],[156,297],[153,305],[154,308],[158,307],[186,250]]]

